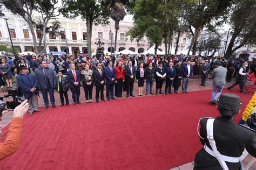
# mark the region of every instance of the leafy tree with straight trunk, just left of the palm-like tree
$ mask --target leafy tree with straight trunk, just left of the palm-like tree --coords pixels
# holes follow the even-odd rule
[[[65,17],[76,18],[80,16],[82,19],[86,20],[89,56],[91,56],[93,23],[95,25],[106,24],[109,19],[109,9],[107,9],[107,6],[104,4],[105,2],[103,0],[66,0],[63,1],[63,6],[59,9]]]

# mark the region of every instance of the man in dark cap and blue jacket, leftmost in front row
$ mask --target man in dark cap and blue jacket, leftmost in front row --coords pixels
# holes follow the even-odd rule
[[[24,96],[29,100],[29,115],[32,116],[33,112],[39,112],[38,109],[38,84],[36,77],[28,73],[28,68],[25,66],[19,67],[21,73],[17,75],[17,92],[18,96]]]

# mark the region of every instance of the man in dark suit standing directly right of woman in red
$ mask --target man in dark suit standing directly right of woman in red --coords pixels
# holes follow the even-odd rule
[[[133,83],[134,83],[134,76],[136,75],[136,70],[132,66],[132,61],[128,61],[128,66],[125,68],[125,87],[126,87],[126,98],[129,96],[135,97],[132,94],[133,91]]]

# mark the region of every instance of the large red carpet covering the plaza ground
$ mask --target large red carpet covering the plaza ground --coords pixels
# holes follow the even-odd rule
[[[242,109],[255,91],[249,89],[249,95],[231,91],[241,96]],[[49,108],[25,117],[21,147],[1,161],[0,169],[169,169],[185,164],[202,147],[199,118],[218,114],[210,97],[211,90],[204,90]]]

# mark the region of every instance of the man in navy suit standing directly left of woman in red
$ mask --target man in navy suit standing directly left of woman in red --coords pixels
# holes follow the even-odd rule
[[[110,98],[115,100],[114,98],[114,80],[116,80],[116,71],[113,68],[113,62],[111,60],[107,60],[107,67],[105,68],[105,77],[106,77],[106,97],[109,101]]]

